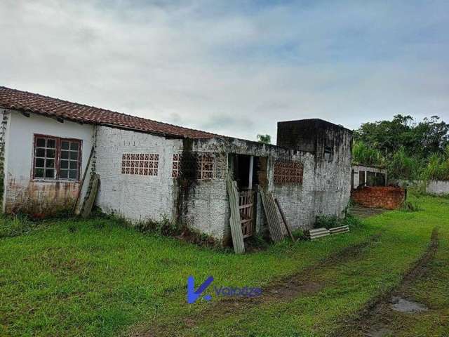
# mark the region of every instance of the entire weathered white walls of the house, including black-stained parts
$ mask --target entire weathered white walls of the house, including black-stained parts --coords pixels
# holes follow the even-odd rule
[[[134,223],[168,218],[215,239],[226,240],[230,233],[226,178],[235,176],[232,160],[236,156],[240,156],[241,163],[246,160],[244,167],[252,156],[254,161],[251,162],[257,166],[256,171],[252,171],[253,178],[261,188],[279,199],[294,228],[310,227],[319,215],[342,216],[349,201],[351,131],[327,122],[323,122],[326,128],[307,133],[311,139],[306,142],[309,150],[304,150],[299,146],[289,148],[225,137],[165,138],[107,126],[73,124],[70,129],[60,129],[64,124],[46,117],[32,117],[31,120],[18,115],[16,121],[16,141],[23,143],[21,153],[29,157],[15,159],[8,168],[9,210],[34,209],[37,203],[38,211],[57,204],[67,206],[73,203],[79,190],[78,183],[30,179],[32,136],[38,131],[50,136],[72,133],[73,138],[83,139],[83,166],[95,143],[91,167],[84,167],[84,170],[100,175],[97,205],[106,213],[117,213]],[[158,154],[157,175],[123,174],[123,153]],[[181,154],[177,157],[181,167],[179,176],[173,176],[174,154]],[[213,161],[204,161],[205,155],[213,157]],[[199,158],[201,170],[206,162],[208,173],[204,177],[201,173],[200,178],[197,174]],[[274,183],[276,161],[302,168],[302,180],[281,179]],[[85,186],[83,190],[88,190]],[[263,230],[265,220],[260,203],[256,208],[257,230]]]

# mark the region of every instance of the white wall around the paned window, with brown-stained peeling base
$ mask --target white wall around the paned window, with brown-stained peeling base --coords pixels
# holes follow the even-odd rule
[[[72,209],[79,191],[79,182],[32,179],[34,134],[82,140],[82,174],[86,170],[93,142],[93,126],[71,121],[61,123],[34,114],[26,117],[14,111],[11,111],[9,118],[8,144],[13,144],[14,147],[8,144],[5,147],[5,155],[8,158],[5,175],[5,211],[43,217]],[[16,153],[20,155],[15,155]]]

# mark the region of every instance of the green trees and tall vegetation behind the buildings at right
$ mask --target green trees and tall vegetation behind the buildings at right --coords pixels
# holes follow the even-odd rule
[[[384,166],[389,177],[449,180],[449,124],[438,116],[416,122],[398,114],[354,131],[354,164]]]

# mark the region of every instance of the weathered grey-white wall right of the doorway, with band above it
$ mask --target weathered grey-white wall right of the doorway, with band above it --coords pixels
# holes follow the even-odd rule
[[[213,138],[196,140],[196,149],[209,152],[225,152],[250,154],[256,157],[267,157],[267,190],[279,199],[284,213],[294,228],[309,228],[314,225],[316,216],[344,216],[349,203],[351,177],[351,134],[346,133],[335,148],[333,160],[318,161],[311,152],[288,150],[286,148],[260,143],[248,142],[234,138]],[[304,165],[303,182],[298,184],[274,184],[274,162],[276,160],[296,161]],[[229,236],[229,201],[225,183],[215,185],[217,191],[222,190],[218,205],[227,210],[220,214],[219,227],[225,227],[225,237]],[[220,206],[217,206],[220,209]],[[257,227],[263,230],[266,219],[261,214],[262,208],[257,204]]]

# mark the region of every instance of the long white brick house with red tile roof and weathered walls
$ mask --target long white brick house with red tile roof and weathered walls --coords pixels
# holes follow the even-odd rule
[[[86,194],[86,170],[100,175],[102,211],[168,218],[219,240],[229,239],[227,178],[254,197],[250,232],[265,222],[257,188],[273,192],[293,227],[342,216],[349,201],[351,131],[327,121],[280,122],[275,146],[4,87],[0,113],[8,213],[70,208]]]

